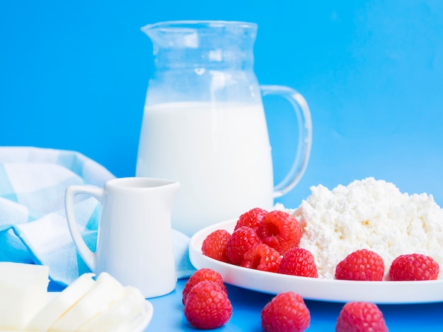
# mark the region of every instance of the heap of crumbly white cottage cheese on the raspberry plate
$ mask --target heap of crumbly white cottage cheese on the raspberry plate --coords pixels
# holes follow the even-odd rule
[[[443,263],[443,209],[427,194],[401,193],[369,177],[332,191],[313,186],[292,214],[304,229],[300,247],[315,257],[319,278],[334,278],[335,266],[363,248],[383,257],[385,278],[401,254],[425,254]]]

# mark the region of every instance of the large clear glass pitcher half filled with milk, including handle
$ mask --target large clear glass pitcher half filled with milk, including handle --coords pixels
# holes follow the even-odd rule
[[[254,23],[171,21],[142,28],[154,47],[137,156],[137,177],[180,182],[172,225],[187,235],[270,209],[306,170],[311,114],[297,91],[259,85]],[[297,114],[294,165],[274,184],[262,95],[281,95]]]

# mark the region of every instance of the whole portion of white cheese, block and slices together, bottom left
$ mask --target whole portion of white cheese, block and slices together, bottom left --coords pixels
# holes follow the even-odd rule
[[[0,262],[0,331],[133,331],[152,314],[139,289],[105,272],[84,273],[47,301],[48,275],[47,266]]]

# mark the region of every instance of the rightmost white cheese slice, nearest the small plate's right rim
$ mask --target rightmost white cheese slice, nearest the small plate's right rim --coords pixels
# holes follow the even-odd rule
[[[80,326],[78,331],[117,331],[120,326],[127,326],[137,316],[144,314],[144,310],[142,292],[135,287],[126,286],[120,299],[110,304],[105,312]]]

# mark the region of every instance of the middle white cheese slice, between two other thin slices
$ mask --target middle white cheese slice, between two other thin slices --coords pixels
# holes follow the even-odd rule
[[[108,273],[100,273],[84,297],[65,312],[50,331],[76,331],[86,321],[104,312],[112,302],[122,297],[123,286]]]

